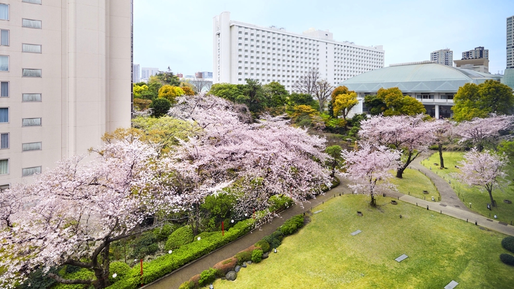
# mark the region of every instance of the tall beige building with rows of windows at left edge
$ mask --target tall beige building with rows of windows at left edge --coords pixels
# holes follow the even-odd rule
[[[132,0],[0,0],[0,186],[130,127]]]

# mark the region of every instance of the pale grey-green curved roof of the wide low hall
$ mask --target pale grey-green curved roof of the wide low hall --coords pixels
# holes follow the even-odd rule
[[[341,82],[357,92],[398,87],[403,92],[456,92],[466,83],[480,84],[501,77],[437,63],[420,63],[384,67]]]

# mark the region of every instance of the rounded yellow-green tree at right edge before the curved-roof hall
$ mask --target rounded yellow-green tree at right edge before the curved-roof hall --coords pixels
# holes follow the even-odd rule
[[[452,107],[456,121],[481,119],[491,113],[513,114],[514,95],[511,87],[495,80],[486,80],[479,85],[466,83],[454,96]]]

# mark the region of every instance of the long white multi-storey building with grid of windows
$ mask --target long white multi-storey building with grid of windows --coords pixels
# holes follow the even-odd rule
[[[291,91],[310,69],[332,85],[360,73],[384,67],[384,49],[336,42],[328,30],[302,34],[230,20],[230,12],[213,19],[213,82],[243,84],[246,78],[263,84],[276,81]]]

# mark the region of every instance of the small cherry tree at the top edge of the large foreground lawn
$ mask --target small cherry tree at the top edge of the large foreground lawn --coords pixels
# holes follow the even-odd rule
[[[387,179],[393,175],[388,171],[401,166],[400,151],[363,143],[359,150],[343,150],[341,156],[345,159],[344,168],[347,171],[343,175],[354,182],[348,187],[370,195],[370,204],[375,207],[375,195],[391,188]]]

